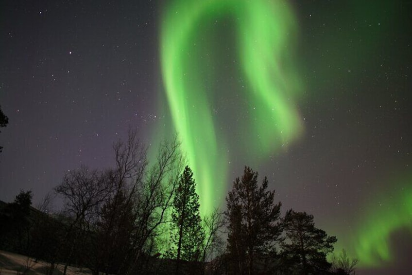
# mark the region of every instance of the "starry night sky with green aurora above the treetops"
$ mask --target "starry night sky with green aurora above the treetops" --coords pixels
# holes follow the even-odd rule
[[[177,132],[204,211],[249,165],[360,274],[409,274],[411,1],[199,2],[2,1],[0,200]]]

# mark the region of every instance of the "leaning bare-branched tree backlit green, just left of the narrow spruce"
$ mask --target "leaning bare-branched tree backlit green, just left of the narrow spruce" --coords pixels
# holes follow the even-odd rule
[[[155,161],[133,192],[135,226],[132,232],[132,250],[125,260],[127,269],[121,274],[146,274],[144,256],[151,255],[156,246],[162,227],[169,222],[166,218],[171,211],[174,192],[184,168],[184,159],[177,137],[163,141]]]

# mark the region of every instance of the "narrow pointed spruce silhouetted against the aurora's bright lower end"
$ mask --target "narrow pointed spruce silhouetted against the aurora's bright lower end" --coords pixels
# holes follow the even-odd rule
[[[172,256],[177,259],[176,274],[181,259],[197,261],[201,257],[205,233],[201,226],[199,207],[193,172],[186,166],[176,189],[172,209],[172,226],[175,229],[172,235]]]

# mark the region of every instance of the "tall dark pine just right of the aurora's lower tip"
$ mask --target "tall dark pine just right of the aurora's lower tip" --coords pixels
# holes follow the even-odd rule
[[[273,257],[279,241],[281,203],[275,204],[275,191],[268,191],[268,180],[257,183],[257,172],[245,167],[226,196],[228,222],[227,250],[235,274],[256,274],[255,261]]]

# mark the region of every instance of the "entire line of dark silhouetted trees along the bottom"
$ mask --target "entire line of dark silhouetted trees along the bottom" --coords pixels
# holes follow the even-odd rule
[[[37,208],[32,192],[0,204],[0,249],[93,274],[311,275],[354,274],[343,251],[331,262],[336,237],[313,216],[290,209],[281,216],[265,177],[245,167],[226,196],[226,210],[201,217],[193,172],[175,137],[160,144],[153,163],[129,130],[113,146],[115,165],[66,171]],[[54,213],[51,201],[63,208]],[[226,241],[224,241],[226,238]]]

